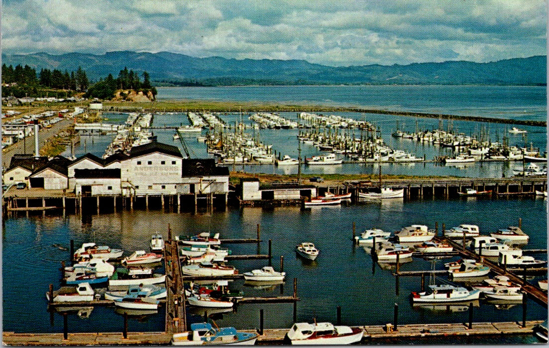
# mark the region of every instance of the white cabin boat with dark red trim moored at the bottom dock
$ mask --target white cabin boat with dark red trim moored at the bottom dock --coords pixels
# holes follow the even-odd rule
[[[340,345],[360,342],[364,330],[332,323],[295,323],[286,336],[300,345]]]

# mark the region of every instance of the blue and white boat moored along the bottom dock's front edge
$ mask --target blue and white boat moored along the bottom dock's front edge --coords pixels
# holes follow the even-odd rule
[[[196,346],[210,344],[254,345],[259,334],[239,332],[233,327],[213,328],[210,323],[191,324],[191,331],[173,334],[174,346]]]

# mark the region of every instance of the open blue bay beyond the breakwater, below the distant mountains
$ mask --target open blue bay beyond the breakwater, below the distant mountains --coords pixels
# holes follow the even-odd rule
[[[244,100],[353,106],[424,113],[547,119],[546,87],[509,86],[261,86],[166,87],[158,99]]]

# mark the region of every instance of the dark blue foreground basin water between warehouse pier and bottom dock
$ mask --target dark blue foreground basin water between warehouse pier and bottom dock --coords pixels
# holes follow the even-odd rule
[[[118,212],[89,216],[45,216],[41,214],[9,218],[3,228],[3,318],[6,331],[60,332],[63,319],[53,316],[53,325],[44,294],[48,284],[58,288],[61,260],[68,260],[69,252],[53,244],[69,246],[70,239],[79,246],[84,242],[107,244],[122,248],[129,254],[136,249],[146,249],[150,235],[160,232],[167,236],[167,224],[175,234],[195,234],[204,231],[220,232],[223,238],[253,238],[256,224],[261,224],[261,238],[272,239],[273,266],[278,268],[279,256],[284,256],[284,271],[288,281],[284,294],[292,294],[292,279],[298,278],[298,321],[335,321],[335,309],[343,308],[343,322],[350,325],[385,324],[393,320],[393,306],[399,304],[400,323],[418,322],[466,322],[467,311],[461,306],[450,308],[412,307],[410,291],[419,290],[419,278],[402,278],[400,295],[395,294],[395,279],[391,267],[379,265],[372,272],[372,259],[367,250],[352,246],[352,222],[357,231],[379,227],[396,231],[413,223],[425,223],[430,227],[438,221],[447,227],[460,223],[478,224],[481,232],[489,233],[497,228],[517,224],[523,218],[523,229],[531,236],[528,248],[546,248],[547,203],[545,199],[525,200],[426,200],[383,202],[374,204],[344,205],[335,208],[301,211],[296,207],[261,209],[246,207],[228,209],[213,214],[176,214],[158,210]],[[53,213],[49,213],[53,214]],[[48,214],[48,215],[49,215]],[[310,241],[321,250],[316,262],[305,262],[295,256],[295,244]],[[229,245],[233,254],[266,253],[267,243],[260,248],[255,244]],[[538,255],[544,258],[545,255]],[[442,269],[446,259],[435,263]],[[233,261],[239,272],[247,272],[266,265],[266,261]],[[401,266],[402,271],[427,270],[431,262],[414,259]],[[444,278],[446,279],[446,278]],[[539,278],[536,278],[539,279]],[[533,279],[535,281],[536,279]],[[439,280],[443,282],[444,280]],[[281,293],[279,287],[254,289],[243,287],[242,280],[231,284],[242,288],[246,296],[273,296]],[[32,310],[29,310],[32,304]],[[292,305],[240,305],[236,312],[223,315],[220,325],[239,328],[259,327],[259,310],[265,309],[266,328],[284,328],[292,325]],[[197,313],[193,311],[192,313]],[[199,311],[190,317],[199,321]],[[545,308],[528,301],[528,319],[546,318]],[[519,321],[520,305],[496,308],[480,302],[475,307],[474,320]],[[70,317],[69,330],[120,331],[122,317],[113,308],[94,308],[91,316],[79,319]],[[132,318],[130,330],[162,330],[164,312],[143,318]]]

